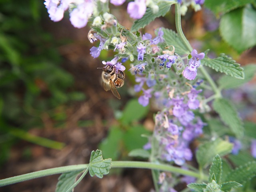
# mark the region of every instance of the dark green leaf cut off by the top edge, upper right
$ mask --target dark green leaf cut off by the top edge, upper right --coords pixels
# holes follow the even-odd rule
[[[205,0],[204,6],[209,8],[214,14],[224,14],[230,10],[242,7],[254,0]]]

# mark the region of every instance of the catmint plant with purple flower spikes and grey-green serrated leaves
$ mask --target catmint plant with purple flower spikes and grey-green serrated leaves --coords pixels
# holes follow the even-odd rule
[[[228,1],[223,2],[221,4],[216,1],[216,4],[222,5],[220,8],[225,14],[242,6],[246,11],[251,11],[250,15],[255,14],[251,8],[247,9],[252,5],[245,5],[242,0],[238,0],[239,5],[230,3],[228,8]],[[126,6],[130,18],[135,19],[130,30],[111,14],[109,3]],[[148,142],[143,149],[130,152],[132,156],[143,154],[149,162],[111,162],[111,159],[102,159],[100,150],[93,151],[89,164],[61,168],[56,172],[51,170],[49,173],[62,171],[66,176],[65,172],[76,171],[73,175],[75,177],[83,172],[77,181],[66,186],[67,191],[72,190],[88,171],[91,176],[102,178],[108,174],[110,165],[112,168],[154,170],[152,176],[157,192],[176,192],[177,186],[182,183],[185,183],[182,188],[184,191],[226,192],[241,187],[256,175],[256,162],[253,160],[256,157],[256,138],[245,136],[244,124],[235,105],[222,94],[222,90],[237,88],[252,79],[256,67],[250,65],[243,71],[240,64],[226,54],[210,58],[210,50],[192,48],[182,32],[181,15],[185,15],[190,8],[201,10],[204,3],[217,12],[210,0],[44,2],[54,22],[62,20],[64,12],[69,12],[74,27],[82,28],[90,23],[88,40],[92,44],[99,42],[98,46],[92,45],[90,48],[91,56],[98,58],[102,50],[111,50],[114,54],[112,60],[102,61],[101,67],[112,66],[116,74],[121,71],[134,76],[136,83],[132,89],[135,93],[133,96],[138,97],[138,105],[151,105],[156,109],[152,116],[154,130],[151,136],[147,136]],[[171,6],[175,7],[177,32],[164,27],[152,29],[154,35],[140,31],[155,18],[166,15]],[[126,63],[125,67],[124,62],[129,64]],[[212,76],[212,73],[217,75]],[[218,76],[219,79],[214,79]],[[236,158],[241,150],[251,153],[247,154],[251,161],[246,159],[242,162]],[[195,161],[196,165],[193,164]],[[237,168],[233,169],[234,166]],[[65,182],[64,176],[59,184]],[[33,174],[30,178],[33,178]],[[16,181],[21,181],[22,176],[18,179]],[[10,183],[12,180],[3,181],[3,184]]]

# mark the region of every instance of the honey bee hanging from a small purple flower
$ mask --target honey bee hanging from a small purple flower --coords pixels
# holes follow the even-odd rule
[[[116,73],[116,67],[107,65],[102,68],[102,86],[105,91],[111,90],[116,98],[121,99],[120,94],[116,88],[124,85],[124,72],[118,70]]]

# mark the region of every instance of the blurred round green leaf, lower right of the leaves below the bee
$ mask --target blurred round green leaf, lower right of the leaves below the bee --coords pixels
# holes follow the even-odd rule
[[[148,139],[142,137],[142,134],[148,134],[149,131],[144,128],[142,125],[137,125],[129,128],[123,137],[124,146],[128,151],[142,148],[147,142]]]

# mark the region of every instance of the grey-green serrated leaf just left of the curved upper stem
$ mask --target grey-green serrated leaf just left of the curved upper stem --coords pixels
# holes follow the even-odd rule
[[[164,32],[164,40],[168,46],[172,45],[175,47],[175,52],[182,56],[184,54],[190,54],[189,50],[186,48],[186,46],[183,44],[183,42],[180,40],[178,34],[170,29],[162,28],[162,31]]]

